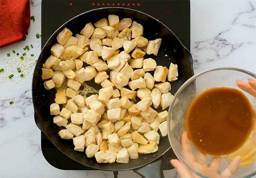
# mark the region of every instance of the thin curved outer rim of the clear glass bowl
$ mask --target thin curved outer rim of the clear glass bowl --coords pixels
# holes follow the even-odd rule
[[[216,67],[216,68],[210,68],[210,69],[207,69],[207,70],[203,70],[202,72],[199,72],[197,74],[195,74],[194,76],[190,77],[186,82],[184,82],[181,87],[177,90],[177,92],[175,93],[174,95],[174,99],[173,101],[175,101],[177,99],[177,97],[180,95],[181,91],[191,82],[191,81],[194,81],[194,79],[198,78],[199,76],[205,74],[205,73],[208,73],[208,72],[212,72],[212,71],[218,71],[218,70],[233,70],[233,71],[237,71],[237,72],[242,72],[242,73],[245,73],[247,75],[250,75],[251,77],[255,78],[256,79],[256,74],[254,74],[253,72],[250,72],[248,70],[245,70],[245,69],[242,69],[242,68],[237,68],[237,67]],[[170,115],[171,115],[171,112],[172,112],[172,108],[174,107],[175,105],[175,102],[172,102],[171,106],[169,107],[169,110],[168,110],[168,119],[167,119],[167,131],[168,131],[168,139],[169,139],[169,142],[170,142],[170,145],[171,145],[171,148],[174,152],[174,154],[176,155],[176,157],[178,158],[178,160],[181,161],[182,164],[184,164],[189,170],[191,170],[193,173],[195,173],[196,175],[202,177],[202,178],[210,178],[208,176],[205,176],[203,175],[202,173],[192,169],[187,163],[186,161],[183,159],[183,157],[178,153],[177,149],[175,147],[173,147],[173,144],[172,144],[172,139],[171,139],[171,136],[170,136],[170,128],[169,128],[169,124],[171,122],[170,120]],[[254,176],[256,175],[256,170],[248,175],[245,175],[243,178],[249,178],[251,176]]]

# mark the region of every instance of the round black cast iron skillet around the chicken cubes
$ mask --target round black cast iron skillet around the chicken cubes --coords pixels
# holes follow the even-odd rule
[[[178,64],[179,77],[177,81],[171,83],[172,94],[174,94],[187,79],[194,75],[191,54],[183,46],[183,44],[181,44],[180,40],[175,36],[175,34],[162,22],[158,21],[157,19],[148,14],[128,8],[116,7],[93,9],[91,11],[79,14],[64,23],[52,34],[52,36],[44,45],[35,66],[32,81],[32,97],[35,112],[35,122],[38,128],[40,128],[40,130],[47,135],[49,140],[60,151],[62,151],[64,154],[77,161],[78,163],[98,170],[134,170],[143,177],[161,177],[163,176],[162,172],[160,171],[161,161],[159,160],[161,159],[158,158],[160,158],[166,151],[168,151],[168,149],[171,148],[168,137],[160,137],[160,142],[158,145],[159,150],[157,152],[147,155],[139,155],[138,159],[130,159],[128,164],[99,164],[96,162],[95,158],[87,158],[85,152],[74,151],[72,140],[62,140],[58,136],[58,131],[63,129],[63,127],[61,128],[55,125],[53,123],[53,116],[50,116],[49,108],[50,104],[54,102],[56,91],[53,89],[49,91],[44,89],[43,80],[41,79],[41,67],[46,59],[50,56],[50,48],[53,46],[53,44],[57,43],[56,36],[59,32],[61,32],[64,27],[69,28],[73,32],[73,35],[75,35],[76,33],[80,32],[80,30],[85,26],[86,23],[90,21],[92,23],[95,23],[101,18],[107,18],[109,14],[119,15],[120,19],[131,18],[133,21],[137,21],[138,23],[142,24],[144,27],[143,37],[147,38],[148,40],[162,38],[162,44],[160,46],[158,55],[146,55],[145,58],[151,57],[155,59],[157,65],[166,66],[168,68],[171,62],[173,62],[174,64]],[[93,81],[88,83],[92,87],[100,89],[99,85],[94,84]],[[157,159],[158,161],[155,161]],[[154,164],[146,166],[153,161],[155,161]]]

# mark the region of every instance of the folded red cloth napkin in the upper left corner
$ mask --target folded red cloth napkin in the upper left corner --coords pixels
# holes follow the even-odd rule
[[[21,41],[29,24],[29,0],[0,0],[0,48]]]

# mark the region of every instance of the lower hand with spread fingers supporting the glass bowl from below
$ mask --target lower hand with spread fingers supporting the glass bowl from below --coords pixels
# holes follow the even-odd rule
[[[221,163],[221,157],[213,157],[210,161],[209,166],[206,163],[206,155],[197,152],[194,156],[190,145],[190,140],[187,136],[187,132],[183,132],[181,137],[182,155],[184,160],[189,163],[189,166],[197,172],[214,178],[229,178],[231,177],[239,166],[241,157],[237,156],[229,166],[221,173],[218,173],[219,166]],[[199,178],[199,176],[192,173],[184,164],[179,160],[171,160],[172,166],[175,167],[181,178]]]

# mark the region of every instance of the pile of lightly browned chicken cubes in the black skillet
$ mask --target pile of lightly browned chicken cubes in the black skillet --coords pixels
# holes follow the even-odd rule
[[[142,37],[141,24],[117,15],[87,23],[72,35],[67,28],[58,34],[42,68],[46,90],[57,90],[50,114],[66,127],[59,136],[73,139],[75,151],[85,150],[98,163],[128,163],[138,153],[156,152],[158,129],[167,135],[168,112],[154,108],[170,106],[169,82],[177,80],[178,71],[175,64],[168,69],[143,57],[156,56],[162,39]],[[99,94],[79,95],[81,83],[93,78],[102,85]]]

